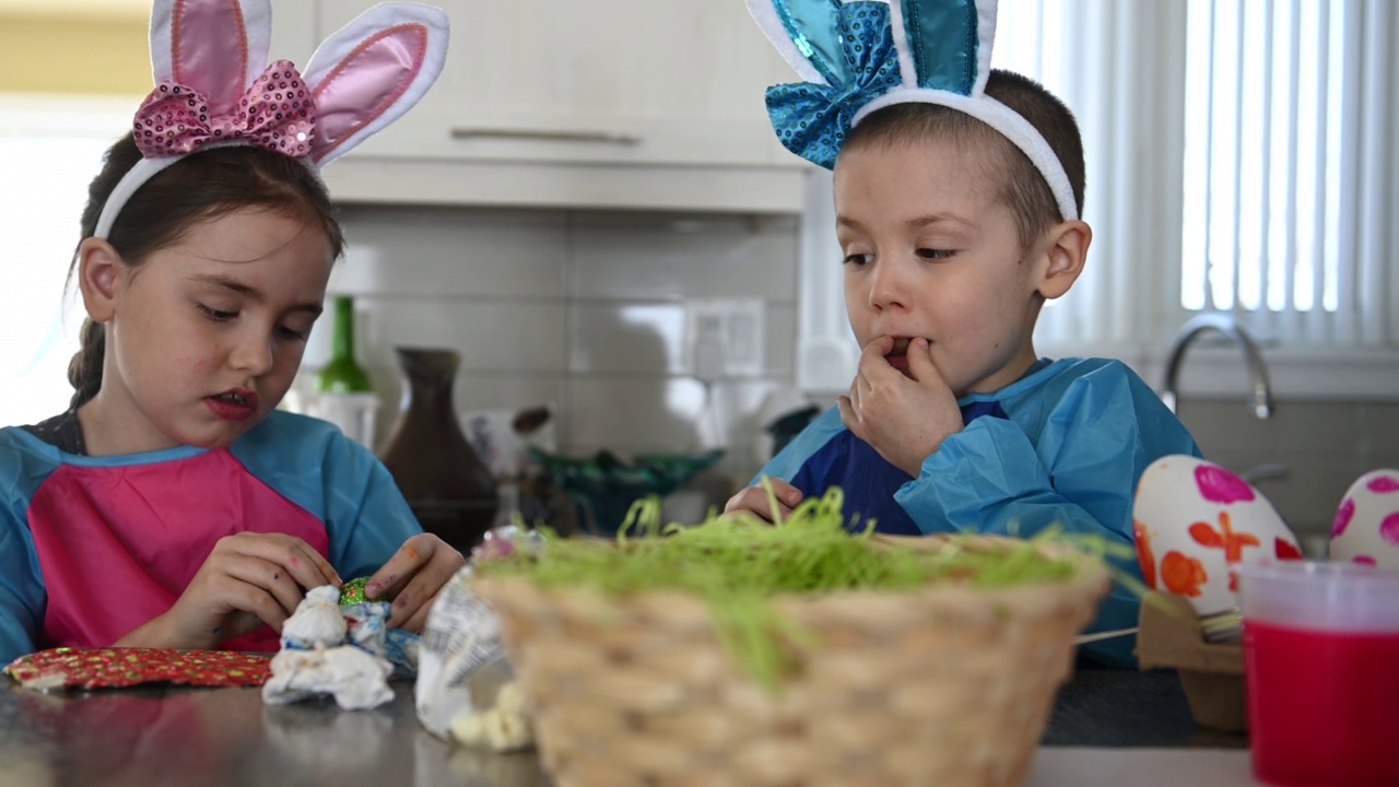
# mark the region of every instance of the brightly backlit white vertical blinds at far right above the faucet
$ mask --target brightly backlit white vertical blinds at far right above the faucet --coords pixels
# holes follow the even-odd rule
[[[1181,305],[1263,340],[1399,343],[1391,0],[1189,4]]]

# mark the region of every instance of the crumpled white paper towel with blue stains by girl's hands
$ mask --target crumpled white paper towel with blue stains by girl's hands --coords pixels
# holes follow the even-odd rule
[[[281,651],[271,658],[263,702],[285,704],[332,695],[340,707],[361,710],[393,699],[389,676],[395,662],[388,658],[386,643],[389,605],[368,602],[341,608],[339,601],[340,591],[333,585],[306,592],[297,612],[283,625]],[[402,646],[397,640],[392,650],[400,657],[404,650],[413,651],[416,662],[416,647]]]

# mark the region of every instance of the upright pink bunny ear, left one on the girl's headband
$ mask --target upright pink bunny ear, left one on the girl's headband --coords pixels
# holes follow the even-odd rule
[[[155,84],[204,94],[213,115],[234,109],[267,69],[270,0],[155,0],[151,66]]]

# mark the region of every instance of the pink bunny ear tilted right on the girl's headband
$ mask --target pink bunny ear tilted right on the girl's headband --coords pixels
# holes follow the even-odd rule
[[[448,29],[432,6],[381,3],[327,38],[305,71],[318,116],[311,160],[325,167],[417,104],[442,71]]]

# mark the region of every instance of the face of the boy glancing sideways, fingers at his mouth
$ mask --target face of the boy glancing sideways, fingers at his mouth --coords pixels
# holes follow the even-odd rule
[[[860,347],[895,339],[886,360],[908,374],[911,339],[963,396],[1018,379],[1035,361],[1037,249],[1020,246],[996,199],[997,168],[950,141],[867,144],[835,165],[845,308]],[[1037,244],[1038,245],[1038,244]]]

